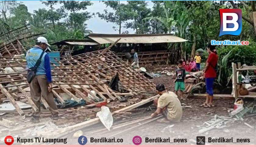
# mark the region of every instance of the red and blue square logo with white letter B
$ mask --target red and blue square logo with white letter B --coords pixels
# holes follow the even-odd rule
[[[219,9],[220,29],[219,36],[240,35],[242,31],[241,9]]]

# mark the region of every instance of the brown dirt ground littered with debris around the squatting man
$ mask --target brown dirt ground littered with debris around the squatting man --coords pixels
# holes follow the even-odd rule
[[[161,73],[163,70],[168,70],[169,72],[174,72],[176,66],[151,66],[147,67],[148,71],[152,71],[154,73]],[[162,83],[165,84],[166,90],[168,91],[174,91],[174,83],[173,83],[172,76],[162,75],[161,77],[157,77],[152,79],[152,81],[155,84]],[[130,99],[128,102],[125,103],[116,103],[114,105],[109,106],[112,111],[115,111],[115,109],[119,109],[120,104],[125,107],[126,105],[134,104],[138,101],[141,101],[141,98],[143,97],[137,97],[135,99]],[[148,138],[170,138],[171,141],[173,141],[174,138],[184,138],[187,139],[187,142],[182,143],[174,143],[177,145],[183,145],[183,144],[196,144],[195,139],[196,136],[205,136],[206,137],[206,144],[233,144],[233,143],[208,143],[208,137],[212,138],[232,138],[233,142],[236,142],[236,139],[242,139],[242,138],[249,138],[250,142],[247,143],[236,143],[236,144],[242,144],[242,145],[255,145],[256,144],[256,117],[247,117],[244,118],[244,120],[239,121],[233,121],[227,123],[223,128],[214,128],[210,131],[204,132],[204,133],[198,133],[200,130],[200,126],[204,124],[205,121],[209,121],[212,118],[214,118],[215,115],[218,116],[229,116],[228,109],[234,107],[234,101],[233,100],[214,100],[215,107],[213,108],[202,108],[199,107],[203,102],[205,101],[204,97],[196,98],[196,97],[188,97],[187,100],[181,101],[182,103],[186,104],[187,106],[191,106],[192,108],[183,108],[183,117],[181,119],[181,122],[179,123],[159,123],[157,121],[150,122],[145,125],[141,125],[140,127],[134,128],[129,131],[122,132],[132,126],[124,126],[123,128],[119,128],[116,130],[111,131],[98,131],[94,133],[97,130],[104,129],[105,127],[102,124],[93,125],[87,128],[84,128],[82,131],[84,132],[84,136],[88,138],[88,140],[92,137],[94,138],[101,138],[101,137],[109,137],[111,138],[115,137],[122,138],[123,143],[91,143],[88,141],[87,144],[120,144],[120,145],[127,145],[127,144],[133,144],[132,139],[134,136],[139,135],[142,138],[142,144],[145,145],[157,145],[157,144],[170,144],[170,143],[145,143],[144,139],[146,137]],[[57,122],[54,122],[55,125],[58,125],[59,127],[69,126],[73,124],[77,124],[79,122],[83,122],[88,119],[88,112],[84,109],[79,108],[69,108],[70,111],[73,111],[71,113],[65,114],[60,117],[60,120]],[[119,125],[124,122],[132,121],[135,119],[145,118],[151,115],[155,111],[155,107],[151,104],[146,104],[143,107],[140,107],[138,112],[134,112],[132,116],[126,115],[125,117],[119,117],[118,119],[114,119],[114,125]],[[142,111],[143,110],[143,111]],[[93,108],[90,109],[91,112],[94,112],[94,115],[97,111],[100,111],[100,108]],[[79,113],[78,113],[79,112]],[[47,114],[44,114],[47,115]],[[49,114],[48,114],[49,115]],[[8,117],[13,117],[13,114],[8,114]],[[130,118],[127,118],[130,117]],[[92,115],[93,117],[93,115]],[[13,119],[16,119],[16,117],[13,117]],[[20,118],[18,118],[20,119]],[[42,119],[41,121],[49,121],[50,118],[46,117]],[[249,128],[244,123],[250,124],[254,128]],[[26,122],[24,122],[26,123]],[[140,122],[142,123],[142,122]],[[133,126],[139,125],[140,123],[134,124]],[[2,131],[3,132],[3,131]],[[122,132],[119,134],[119,132]],[[118,135],[115,135],[118,134]],[[64,136],[68,138],[68,144],[78,144],[77,138],[73,138],[73,133]]]

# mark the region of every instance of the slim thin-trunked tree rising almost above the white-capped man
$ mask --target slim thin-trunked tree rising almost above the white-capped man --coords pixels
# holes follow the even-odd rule
[[[66,16],[63,9],[57,9],[55,11],[54,5],[56,5],[59,1],[41,1],[42,4],[50,7],[50,10],[46,13],[46,18],[50,20],[53,24],[53,28],[55,30],[55,22]]]

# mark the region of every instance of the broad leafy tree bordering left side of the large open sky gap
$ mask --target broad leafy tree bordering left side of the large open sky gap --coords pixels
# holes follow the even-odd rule
[[[84,25],[85,21],[92,17],[92,15],[87,11],[78,13],[78,11],[86,10],[88,6],[92,5],[93,3],[90,1],[61,1],[61,3],[64,4],[64,9],[71,12],[67,19],[69,27],[77,29],[77,26]]]

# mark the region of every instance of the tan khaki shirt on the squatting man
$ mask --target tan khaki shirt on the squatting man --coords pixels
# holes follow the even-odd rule
[[[168,91],[162,94],[158,99],[157,107],[168,110],[167,119],[174,122],[179,122],[182,117],[182,107],[180,100],[174,92]]]

